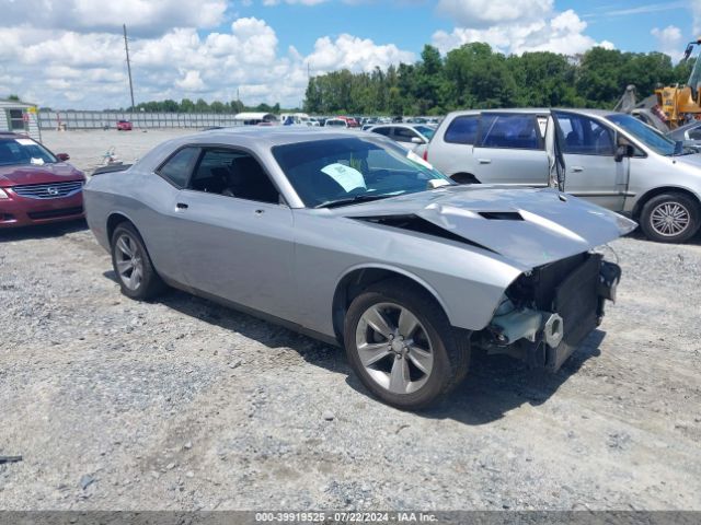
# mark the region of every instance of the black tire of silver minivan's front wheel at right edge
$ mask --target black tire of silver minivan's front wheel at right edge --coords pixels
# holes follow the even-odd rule
[[[655,226],[654,214],[659,213],[665,207],[683,210],[688,217],[686,228],[678,233],[662,232],[659,226]],[[677,208],[674,208],[677,207]],[[658,215],[656,215],[658,217]],[[668,194],[656,195],[643,206],[640,213],[640,228],[647,238],[658,243],[686,243],[693,237],[701,225],[701,209],[699,202],[681,192],[670,191]]]

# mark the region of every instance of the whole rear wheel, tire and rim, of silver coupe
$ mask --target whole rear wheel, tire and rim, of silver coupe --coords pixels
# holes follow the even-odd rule
[[[112,266],[122,293],[131,299],[151,299],[165,288],[141,235],[129,222],[117,225],[112,234]]]

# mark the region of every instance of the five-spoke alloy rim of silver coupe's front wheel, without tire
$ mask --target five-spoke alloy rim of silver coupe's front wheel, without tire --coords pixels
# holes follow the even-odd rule
[[[416,315],[399,304],[378,303],[363,313],[356,348],[367,374],[393,394],[418,390],[434,368],[426,329]]]

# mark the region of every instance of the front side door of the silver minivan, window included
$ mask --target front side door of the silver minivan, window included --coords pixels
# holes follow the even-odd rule
[[[561,130],[565,191],[613,211],[623,209],[630,161],[616,161],[616,132],[593,117],[553,112]]]

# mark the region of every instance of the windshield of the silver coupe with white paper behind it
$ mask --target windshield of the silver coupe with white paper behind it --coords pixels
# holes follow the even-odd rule
[[[273,155],[308,208],[424,191],[434,179],[451,184],[415,153],[372,137],[277,145]]]

